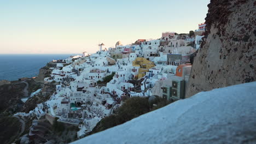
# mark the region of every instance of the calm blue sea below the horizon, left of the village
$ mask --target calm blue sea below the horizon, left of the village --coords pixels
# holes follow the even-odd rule
[[[21,77],[37,76],[39,69],[46,63],[71,55],[0,55],[0,80],[13,81]]]

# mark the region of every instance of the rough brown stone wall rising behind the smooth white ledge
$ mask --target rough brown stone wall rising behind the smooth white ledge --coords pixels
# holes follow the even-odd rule
[[[256,80],[256,1],[211,0],[186,97]]]

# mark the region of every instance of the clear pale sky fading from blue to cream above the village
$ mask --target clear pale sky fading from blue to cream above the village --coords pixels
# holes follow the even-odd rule
[[[210,0],[0,0],[0,54],[89,53],[188,33],[205,22]]]

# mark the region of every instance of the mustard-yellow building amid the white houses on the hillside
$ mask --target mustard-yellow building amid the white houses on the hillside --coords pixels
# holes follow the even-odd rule
[[[132,62],[133,67],[139,67],[138,70],[138,75],[135,77],[138,77],[138,79],[141,79],[143,76],[146,75],[148,70],[152,67],[155,67],[155,64],[151,61],[148,61],[148,59],[144,57],[137,57],[133,62]]]

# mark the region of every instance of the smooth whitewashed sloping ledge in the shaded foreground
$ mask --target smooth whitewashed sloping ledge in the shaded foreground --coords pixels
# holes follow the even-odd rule
[[[255,143],[255,87],[200,92],[73,143]]]

